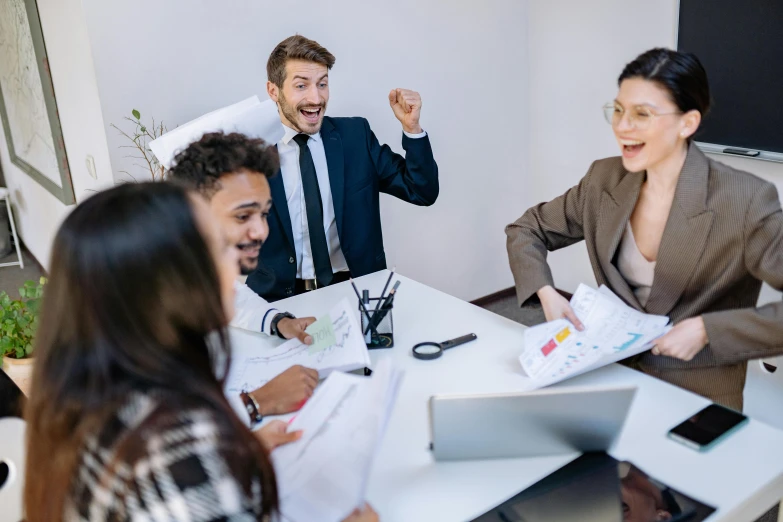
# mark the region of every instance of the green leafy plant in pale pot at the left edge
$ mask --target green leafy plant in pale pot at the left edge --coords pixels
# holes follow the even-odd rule
[[[27,281],[19,299],[0,292],[0,354],[3,371],[27,395],[33,373],[33,338],[38,329],[38,309],[46,278]]]

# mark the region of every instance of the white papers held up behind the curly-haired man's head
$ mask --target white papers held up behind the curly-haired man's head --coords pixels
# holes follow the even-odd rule
[[[272,100],[262,102],[251,96],[239,103],[217,109],[170,130],[149,143],[160,164],[171,168],[174,157],[208,132],[241,132],[251,138],[261,138],[270,145],[283,138],[283,124]]]

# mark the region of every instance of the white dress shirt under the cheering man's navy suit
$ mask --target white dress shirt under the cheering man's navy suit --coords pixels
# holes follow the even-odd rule
[[[315,265],[313,264],[313,252],[310,246],[310,230],[307,223],[307,211],[305,207],[304,190],[302,189],[302,174],[299,171],[299,145],[294,141],[294,136],[299,134],[287,125],[283,125],[285,135],[277,144],[277,152],[280,156],[280,172],[285,186],[285,199],[288,204],[288,214],[291,216],[291,229],[294,234],[294,250],[296,251],[296,277],[299,279],[315,279]],[[422,138],[426,132],[419,134],[405,133],[409,138]],[[329,259],[332,262],[332,271],[341,272],[348,270],[348,263],[340,248],[340,238],[337,235],[337,221],[334,216],[334,202],[332,201],[332,187],[329,183],[329,169],[326,165],[326,152],[321,134],[312,134],[307,140],[310,154],[315,165],[315,175],[318,178],[318,189],[321,192],[323,203],[323,223],[326,233],[326,244],[329,248]]]

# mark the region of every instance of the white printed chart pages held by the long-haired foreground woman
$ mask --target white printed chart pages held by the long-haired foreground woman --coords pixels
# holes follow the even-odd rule
[[[339,522],[364,505],[401,379],[383,361],[372,377],[334,372],[315,391],[289,427],[302,438],[272,452],[284,520]]]

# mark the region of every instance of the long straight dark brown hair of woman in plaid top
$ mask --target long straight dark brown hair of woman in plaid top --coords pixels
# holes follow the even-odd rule
[[[163,392],[214,412],[239,442],[242,462],[230,469],[247,476],[238,482],[250,494],[257,477],[263,512],[277,509],[268,456],[222,393],[227,320],[193,197],[170,183],[126,184],[91,197],[60,227],[26,410],[28,521],[62,519],[82,445],[133,392]],[[143,444],[141,427],[124,435],[118,458]]]

